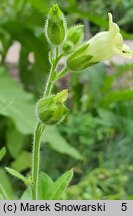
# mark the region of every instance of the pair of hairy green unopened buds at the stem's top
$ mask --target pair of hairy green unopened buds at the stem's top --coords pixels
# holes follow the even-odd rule
[[[45,26],[45,33],[50,44],[62,45],[64,54],[70,54],[84,37],[84,26],[75,25],[67,29],[64,15],[57,4],[49,11]]]

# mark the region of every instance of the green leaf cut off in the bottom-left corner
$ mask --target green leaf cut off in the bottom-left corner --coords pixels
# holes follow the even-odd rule
[[[0,185],[3,190],[6,192],[6,195],[9,199],[13,200],[16,197],[13,194],[13,188],[11,182],[3,168],[0,168]]]

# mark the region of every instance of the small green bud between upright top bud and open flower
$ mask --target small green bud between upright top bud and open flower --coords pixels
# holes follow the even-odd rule
[[[73,51],[74,47],[78,45],[84,36],[84,26],[76,25],[71,27],[66,34],[66,40],[63,44],[62,50],[64,54],[69,54]]]

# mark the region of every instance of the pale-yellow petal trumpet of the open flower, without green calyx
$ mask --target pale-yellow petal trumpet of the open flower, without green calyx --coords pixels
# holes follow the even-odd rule
[[[99,62],[111,58],[118,54],[126,58],[132,56],[132,51],[123,44],[123,38],[120,29],[112,21],[112,14],[109,15],[109,30],[96,34],[88,41],[88,53],[93,56],[91,62]]]

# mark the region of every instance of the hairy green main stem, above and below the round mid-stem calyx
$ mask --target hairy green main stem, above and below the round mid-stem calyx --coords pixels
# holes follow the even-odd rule
[[[50,95],[52,86],[53,86],[53,78],[56,77],[56,67],[57,64],[62,57],[62,54],[58,56],[58,50],[56,49],[56,57],[52,62],[50,74],[48,77],[48,81],[46,84],[46,88],[44,91],[43,97],[47,97]],[[37,200],[38,198],[38,177],[39,177],[39,160],[40,160],[40,144],[41,144],[41,136],[44,131],[44,124],[40,121],[37,123],[35,132],[34,132],[34,140],[33,140],[33,158],[32,158],[32,199]]]

